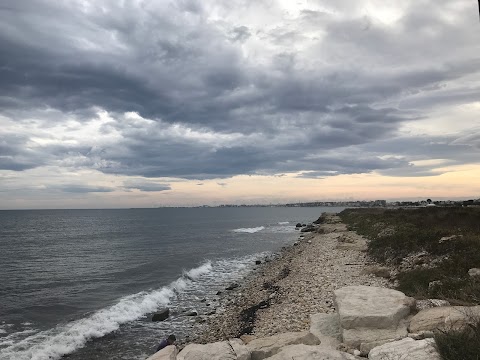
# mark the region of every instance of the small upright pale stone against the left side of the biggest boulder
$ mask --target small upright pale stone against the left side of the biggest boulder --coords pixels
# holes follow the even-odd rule
[[[342,340],[340,317],[337,313],[310,315],[310,332],[320,340],[322,347],[336,349]]]

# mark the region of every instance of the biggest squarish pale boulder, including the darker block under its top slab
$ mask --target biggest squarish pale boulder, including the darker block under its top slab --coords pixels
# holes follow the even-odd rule
[[[400,291],[373,286],[337,289],[334,301],[343,342],[352,347],[407,336],[407,323],[403,319],[415,304],[415,299]]]

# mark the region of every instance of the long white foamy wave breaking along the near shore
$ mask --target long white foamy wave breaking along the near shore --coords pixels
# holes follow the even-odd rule
[[[18,332],[11,334],[1,339],[3,346],[7,347],[0,349],[0,358],[2,360],[60,359],[63,355],[83,347],[88,340],[105,336],[119,329],[120,325],[140,319],[145,314],[156,311],[160,306],[165,306],[177,293],[187,289],[195,280],[207,275],[211,270],[211,262],[206,262],[184,272],[184,276],[159,290],[143,291],[123,297],[115,305],[99,310],[88,317],[58,325],[20,341],[14,341],[15,337],[18,339],[20,335]],[[25,335],[25,331],[21,333]]]

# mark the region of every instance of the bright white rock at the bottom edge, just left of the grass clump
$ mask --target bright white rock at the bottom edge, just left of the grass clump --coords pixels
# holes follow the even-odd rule
[[[433,339],[415,341],[405,338],[373,348],[368,354],[369,360],[440,360]]]

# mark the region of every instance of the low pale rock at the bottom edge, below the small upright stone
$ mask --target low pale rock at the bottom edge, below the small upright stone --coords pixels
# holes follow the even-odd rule
[[[322,346],[289,345],[267,358],[268,360],[356,360],[362,359],[345,352],[327,349]]]

